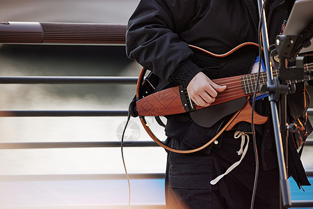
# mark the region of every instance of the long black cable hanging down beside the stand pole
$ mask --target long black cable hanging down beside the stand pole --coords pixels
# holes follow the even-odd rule
[[[253,139],[252,141],[253,141],[253,149],[255,153],[255,180],[253,184],[250,209],[253,209],[255,205],[255,195],[257,193],[257,179],[259,178],[259,156],[257,154],[257,139],[255,137],[254,114],[255,114],[255,98],[257,97],[257,88],[259,87],[259,76],[260,76],[261,65],[262,65],[262,47],[261,47],[260,31],[261,31],[261,26],[262,26],[263,10],[265,8],[266,1],[267,0],[264,1],[263,6],[262,6],[262,13],[261,13],[261,17],[259,18],[259,26],[257,30],[257,40],[259,42],[259,70],[257,72],[257,82],[255,84],[255,92],[253,93],[252,114],[251,114],[251,129],[252,129],[252,139]]]

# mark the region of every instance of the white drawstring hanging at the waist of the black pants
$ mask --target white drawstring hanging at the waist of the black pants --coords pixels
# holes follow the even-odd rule
[[[223,178],[225,175],[227,175],[227,173],[230,173],[230,171],[232,171],[234,168],[236,168],[241,161],[243,160],[243,157],[245,157],[247,150],[248,150],[248,144],[249,144],[249,135],[246,134],[246,132],[241,132],[241,131],[236,131],[234,134],[234,138],[238,139],[239,137],[241,137],[241,146],[240,146],[240,150],[237,151],[238,155],[241,155],[241,158],[239,161],[235,162],[234,164],[232,164],[231,167],[229,167],[227,169],[227,171],[223,174],[220,174],[220,176],[216,177],[214,180],[211,180],[210,184],[211,185],[215,185],[216,183],[218,183],[218,181]],[[243,148],[244,144],[246,143],[246,139],[247,139],[247,144],[245,146],[245,148]]]

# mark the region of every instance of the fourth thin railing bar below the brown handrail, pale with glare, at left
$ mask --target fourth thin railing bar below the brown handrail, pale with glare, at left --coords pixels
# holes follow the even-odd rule
[[[131,179],[165,178],[165,173],[129,173]],[[33,180],[111,180],[126,179],[125,173],[105,174],[44,174],[44,175],[0,175],[1,181],[33,181]]]

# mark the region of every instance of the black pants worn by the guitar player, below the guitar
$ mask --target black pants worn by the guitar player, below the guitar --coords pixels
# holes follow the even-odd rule
[[[201,152],[193,154],[168,153],[166,169],[167,208],[250,208],[255,178],[252,136],[250,137],[248,152],[241,164],[224,176],[216,185],[211,185],[212,179],[224,173],[241,157],[236,153],[240,149],[241,139],[234,139],[234,132],[223,134],[220,141],[220,147],[213,147],[209,154]],[[171,139],[170,146],[184,148],[178,139]],[[259,160],[261,158],[259,156]],[[278,169],[264,171],[260,162],[255,208],[279,207],[279,171]]]

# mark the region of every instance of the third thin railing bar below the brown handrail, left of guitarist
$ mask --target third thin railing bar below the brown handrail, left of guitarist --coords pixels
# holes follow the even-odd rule
[[[41,149],[41,148],[104,148],[120,147],[120,141],[72,141],[72,142],[2,142],[1,149]],[[154,141],[125,141],[125,147],[159,146]]]

